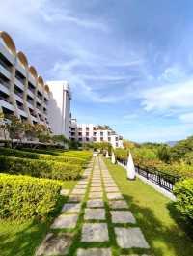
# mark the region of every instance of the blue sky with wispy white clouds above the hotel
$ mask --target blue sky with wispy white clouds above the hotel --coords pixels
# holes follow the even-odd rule
[[[0,30],[44,81],[69,81],[79,123],[137,142],[193,134],[192,0],[0,4]]]

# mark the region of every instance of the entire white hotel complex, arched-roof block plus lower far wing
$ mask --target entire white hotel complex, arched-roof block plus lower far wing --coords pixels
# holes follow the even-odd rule
[[[71,140],[123,146],[122,138],[110,128],[70,120],[70,100],[66,81],[44,83],[25,54],[16,50],[13,39],[0,31],[0,111],[30,124],[45,125],[53,134],[64,134]]]

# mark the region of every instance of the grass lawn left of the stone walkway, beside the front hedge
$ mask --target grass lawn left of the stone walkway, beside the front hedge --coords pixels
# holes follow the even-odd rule
[[[77,181],[64,182],[64,188],[71,189]],[[61,200],[64,204],[65,200]],[[61,206],[59,206],[61,208]],[[58,214],[58,210],[54,215]],[[50,221],[38,223],[35,221],[0,220],[0,255],[1,256],[32,256],[49,230]]]

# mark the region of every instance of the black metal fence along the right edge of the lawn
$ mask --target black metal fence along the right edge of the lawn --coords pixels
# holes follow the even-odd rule
[[[120,163],[124,164],[126,166],[125,161],[119,161]],[[161,171],[150,171],[146,168],[142,168],[140,166],[135,166],[136,172],[146,178],[147,180],[150,180],[152,183],[159,185],[160,187],[172,192],[175,183],[179,181],[179,177],[167,174]]]

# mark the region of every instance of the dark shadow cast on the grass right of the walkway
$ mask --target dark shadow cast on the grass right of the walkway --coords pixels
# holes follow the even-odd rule
[[[171,255],[171,252],[175,256],[192,255],[193,244],[191,245],[190,239],[182,231],[179,231],[177,225],[166,226],[161,221],[161,213],[160,218],[157,218],[150,208],[134,204],[132,197],[124,194],[124,199],[130,205],[130,210],[149,242],[153,255],[167,256]],[[166,254],[166,247],[169,249],[168,254]]]

